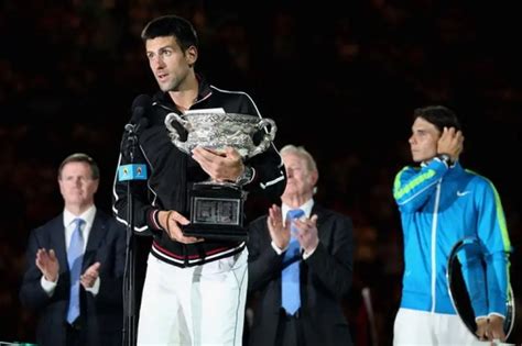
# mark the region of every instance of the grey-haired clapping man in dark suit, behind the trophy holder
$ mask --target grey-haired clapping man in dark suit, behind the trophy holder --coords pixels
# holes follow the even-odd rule
[[[351,345],[342,311],[352,279],[351,220],[314,202],[318,171],[308,152],[286,145],[281,156],[287,177],[282,205],[249,226],[249,345]],[[290,221],[295,211],[300,219]],[[293,259],[286,254],[292,244]],[[293,264],[296,272],[286,280]],[[285,293],[292,282],[296,291]],[[285,297],[297,299],[294,306]]]

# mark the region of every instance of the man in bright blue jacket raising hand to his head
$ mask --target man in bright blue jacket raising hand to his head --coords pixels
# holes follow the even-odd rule
[[[393,197],[404,233],[402,300],[394,345],[479,345],[504,341],[511,243],[499,194],[488,179],[459,163],[464,135],[455,113],[443,105],[414,111],[410,148],[413,161],[395,177]],[[468,276],[477,331],[456,314],[446,270],[453,246],[477,237],[486,274]],[[485,277],[486,276],[486,277]]]

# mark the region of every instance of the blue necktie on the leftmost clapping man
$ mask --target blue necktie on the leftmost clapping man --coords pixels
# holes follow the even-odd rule
[[[67,310],[67,322],[73,322],[79,316],[79,277],[81,275],[81,259],[84,258],[84,236],[81,235],[81,219],[75,219],[76,226],[70,237],[67,249],[67,261],[70,271],[70,298]]]

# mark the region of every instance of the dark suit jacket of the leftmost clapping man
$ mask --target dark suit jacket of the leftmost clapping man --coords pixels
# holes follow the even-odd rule
[[[42,272],[35,265],[39,248],[54,249],[59,263],[59,278],[52,297],[41,286]],[[63,214],[35,228],[29,237],[26,269],[20,299],[39,314],[36,343],[45,346],[66,345],[67,306],[70,274],[67,265]],[[123,327],[123,270],[126,265],[126,230],[113,217],[96,211],[81,264],[81,272],[99,261],[100,289],[95,297],[80,286],[81,345],[121,345]]]

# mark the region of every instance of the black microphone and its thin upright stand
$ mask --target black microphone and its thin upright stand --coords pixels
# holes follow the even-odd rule
[[[134,149],[138,142],[138,134],[134,127],[129,130],[127,144],[123,148],[128,149],[130,165],[134,163]],[[126,153],[123,153],[126,154]],[[135,254],[137,243],[133,234],[134,230],[134,210],[131,192],[132,179],[127,180],[127,254],[126,270],[123,275],[123,345],[135,346],[137,344],[137,319],[135,319]]]

